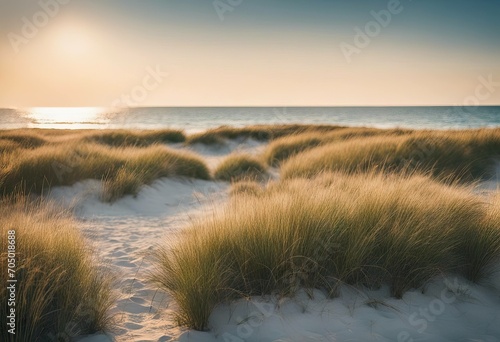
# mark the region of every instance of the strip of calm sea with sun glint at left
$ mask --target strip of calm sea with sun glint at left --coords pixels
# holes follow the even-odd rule
[[[289,123],[417,129],[500,127],[500,106],[0,109],[0,129],[181,128],[197,132],[222,125]]]

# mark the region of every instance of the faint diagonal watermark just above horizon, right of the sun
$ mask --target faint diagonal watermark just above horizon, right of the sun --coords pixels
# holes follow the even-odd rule
[[[146,101],[149,94],[158,89],[168,76],[169,73],[162,71],[159,65],[156,65],[154,69],[148,66],[141,83],[133,87],[129,93],[122,94],[116,98],[111,103],[111,106],[113,108],[136,107],[141,102]]]

